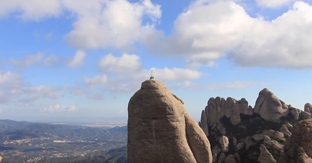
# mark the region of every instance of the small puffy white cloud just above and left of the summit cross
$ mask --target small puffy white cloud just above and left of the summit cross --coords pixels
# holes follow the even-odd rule
[[[139,61],[139,56],[135,54],[124,53],[120,57],[108,54],[100,59],[97,66],[104,71],[120,73],[135,71],[141,67],[141,63]]]

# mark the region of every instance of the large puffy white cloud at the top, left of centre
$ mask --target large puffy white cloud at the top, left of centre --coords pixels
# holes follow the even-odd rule
[[[70,45],[81,48],[128,47],[150,33],[155,21],[161,17],[160,5],[152,4],[150,0],[135,3],[103,0],[94,3],[93,7],[95,11],[91,13],[77,10],[80,16],[67,35]],[[151,21],[143,23],[143,17]]]

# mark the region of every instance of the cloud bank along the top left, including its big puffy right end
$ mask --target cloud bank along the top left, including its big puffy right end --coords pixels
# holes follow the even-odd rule
[[[42,20],[71,14],[77,18],[67,34],[79,48],[128,47],[154,30],[162,15],[150,0],[10,0],[0,1],[0,18]]]

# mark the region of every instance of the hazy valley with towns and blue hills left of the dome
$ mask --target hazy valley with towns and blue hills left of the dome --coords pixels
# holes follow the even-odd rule
[[[0,119],[5,162],[126,162],[127,126],[89,127]],[[74,160],[74,161],[73,161]]]

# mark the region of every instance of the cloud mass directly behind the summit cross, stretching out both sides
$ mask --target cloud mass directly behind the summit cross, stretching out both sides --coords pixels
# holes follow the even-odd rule
[[[114,56],[107,54],[98,62],[98,68],[105,72],[113,73],[113,76],[107,76],[103,80],[103,75],[85,78],[85,83],[90,86],[96,86],[105,83],[107,88],[116,92],[128,92],[137,89],[141,83],[150,77],[150,71],[153,70],[155,79],[162,81],[184,81],[199,78],[207,75],[200,71],[190,68],[155,68],[145,69],[142,66],[140,57],[135,54],[123,54],[122,56]],[[106,77],[106,75],[104,75]],[[104,82],[105,81],[105,82]]]

